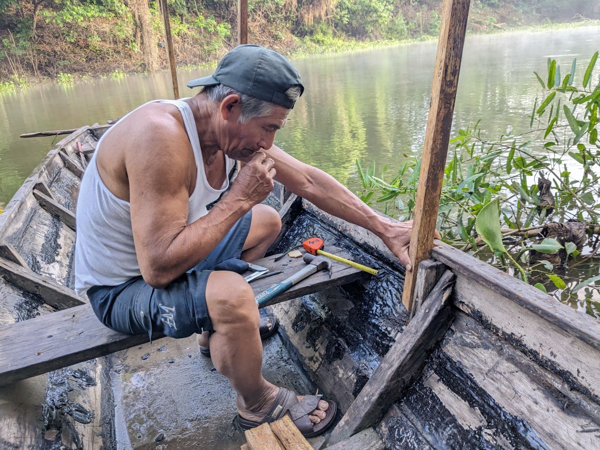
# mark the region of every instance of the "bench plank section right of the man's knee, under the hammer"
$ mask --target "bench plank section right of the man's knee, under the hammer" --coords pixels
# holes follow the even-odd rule
[[[341,257],[350,258],[349,253],[342,251],[339,248],[330,247],[330,250],[331,253],[337,254]],[[284,258],[278,262],[275,262],[274,259],[277,258],[277,256],[279,255],[276,254],[268,256],[266,258],[259,259],[253,262],[254,264],[257,264],[259,266],[264,266],[266,268],[272,269],[272,271],[281,271],[281,274],[273,275],[272,277],[262,278],[261,280],[252,281],[250,286],[252,286],[252,289],[255,294],[259,294],[263,292],[263,290],[268,289],[274,284],[285,280],[287,277],[290,277],[290,275],[295,274],[300,269],[304,268],[304,266],[306,266],[306,263],[304,262],[304,260],[302,260],[302,258],[292,259],[289,262],[286,261],[286,259]],[[280,296],[275,297],[265,306],[274,305],[280,302],[290,300],[292,298],[298,298],[313,292],[319,292],[320,290],[329,289],[331,287],[341,286],[342,284],[351,283],[352,281],[360,280],[362,278],[370,276],[366,272],[362,272],[345,264],[338,263],[335,261],[332,261],[331,263],[331,278],[329,277],[329,273],[327,271],[319,271],[316,274],[305,278],[295,286],[292,286]]]

